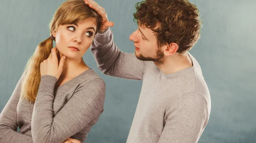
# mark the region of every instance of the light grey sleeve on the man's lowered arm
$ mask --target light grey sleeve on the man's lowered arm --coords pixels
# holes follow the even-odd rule
[[[157,143],[197,143],[208,121],[207,103],[198,93],[181,97],[177,109],[166,112],[163,132]]]

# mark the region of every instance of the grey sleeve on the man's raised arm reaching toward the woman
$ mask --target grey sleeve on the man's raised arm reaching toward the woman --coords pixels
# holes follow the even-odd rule
[[[123,79],[142,80],[145,62],[134,53],[124,53],[113,42],[113,32],[108,28],[98,32],[91,45],[99,70],[109,76]]]

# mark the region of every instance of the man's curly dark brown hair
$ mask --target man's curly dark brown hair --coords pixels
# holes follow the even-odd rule
[[[188,0],[145,0],[136,9],[134,22],[155,32],[159,48],[175,42],[185,53],[200,38],[199,11]]]

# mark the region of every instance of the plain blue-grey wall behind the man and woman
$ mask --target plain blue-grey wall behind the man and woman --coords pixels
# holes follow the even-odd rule
[[[9,100],[26,61],[49,36],[49,21],[64,0],[0,0],[0,111]],[[139,0],[96,0],[108,12],[114,41],[134,52],[128,37]],[[201,13],[201,39],[190,51],[201,65],[211,93],[209,123],[199,143],[256,143],[256,1],[191,0]],[[90,52],[84,61],[107,84],[105,112],[86,143],[125,143],[141,81],[105,76]]]

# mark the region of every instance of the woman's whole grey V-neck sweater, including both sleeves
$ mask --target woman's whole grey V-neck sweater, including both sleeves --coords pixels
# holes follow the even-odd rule
[[[62,143],[68,137],[83,143],[105,100],[105,82],[93,69],[56,88],[57,78],[41,76],[35,104],[20,99],[22,81],[0,114],[0,143]]]

